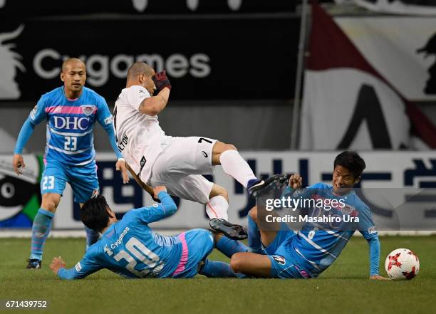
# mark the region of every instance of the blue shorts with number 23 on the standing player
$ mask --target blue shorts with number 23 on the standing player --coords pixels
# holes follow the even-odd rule
[[[98,195],[97,166],[90,162],[85,166],[70,166],[50,160],[41,177],[41,194],[63,194],[66,182],[71,185],[74,202],[84,203]]]

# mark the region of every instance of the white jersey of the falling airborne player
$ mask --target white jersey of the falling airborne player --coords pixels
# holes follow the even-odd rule
[[[145,182],[162,152],[161,142],[165,137],[157,115],[146,115],[138,110],[142,100],[149,97],[150,93],[142,86],[124,88],[115,101],[113,123],[117,145],[125,161]]]

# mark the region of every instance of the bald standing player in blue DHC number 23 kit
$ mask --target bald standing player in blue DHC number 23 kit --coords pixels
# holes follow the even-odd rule
[[[31,111],[19,133],[12,164],[16,174],[25,167],[21,155],[33,129],[47,120],[47,144],[44,171],[41,179],[42,203],[33,219],[31,256],[27,268],[41,268],[43,245],[51,229],[51,220],[68,182],[74,201],[81,206],[98,195],[97,168],[93,145],[96,121],[108,132],[109,142],[118,157],[116,169],[121,170],[123,182],[128,182],[128,172],[123,156],[118,151],[113,132],[113,117],[104,98],[83,87],[86,80],[85,63],[69,58],[62,64],[63,86],[42,95]],[[86,228],[85,228],[86,229]],[[98,240],[99,234],[86,229],[86,246]]]

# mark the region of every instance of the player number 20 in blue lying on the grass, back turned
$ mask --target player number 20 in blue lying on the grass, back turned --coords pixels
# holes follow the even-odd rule
[[[89,199],[82,207],[85,226],[102,234],[82,260],[66,269],[55,257],[50,268],[62,279],[84,278],[107,268],[125,278],[192,278],[197,273],[208,277],[236,277],[228,263],[206,257],[216,247],[231,257],[247,251],[244,244],[205,229],[193,229],[178,236],[155,234],[148,224],[171,216],[177,210],[167,190],[155,187],[160,204],[128,211],[118,221],[103,196]]]

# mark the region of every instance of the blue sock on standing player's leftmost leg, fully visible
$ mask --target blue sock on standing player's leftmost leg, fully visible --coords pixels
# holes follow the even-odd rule
[[[51,211],[38,209],[32,225],[31,259],[42,260],[43,247],[50,233],[53,216],[54,214]]]

